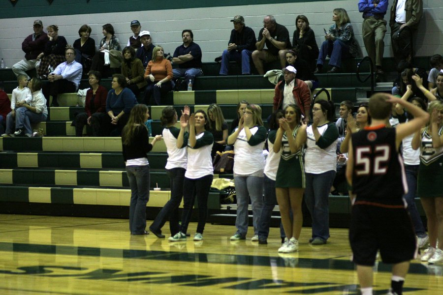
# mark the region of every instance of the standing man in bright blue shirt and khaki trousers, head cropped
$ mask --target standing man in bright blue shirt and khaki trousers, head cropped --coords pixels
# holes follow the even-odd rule
[[[388,0],[360,0],[358,11],[363,12],[362,35],[368,56],[377,66],[377,74],[383,74],[381,61],[386,34],[386,14]]]

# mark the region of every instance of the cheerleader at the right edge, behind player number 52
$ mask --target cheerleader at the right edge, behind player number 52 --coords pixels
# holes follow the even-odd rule
[[[429,247],[421,261],[443,263],[443,102],[429,104],[428,125],[414,134],[412,148],[420,148],[417,195],[428,221]],[[437,248],[437,241],[439,245]]]

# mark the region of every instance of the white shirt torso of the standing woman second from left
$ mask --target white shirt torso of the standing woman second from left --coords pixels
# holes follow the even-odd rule
[[[186,147],[177,148],[179,133],[180,129],[174,126],[163,129],[162,136],[168,152],[168,159],[164,167],[166,169],[187,168],[187,149]]]

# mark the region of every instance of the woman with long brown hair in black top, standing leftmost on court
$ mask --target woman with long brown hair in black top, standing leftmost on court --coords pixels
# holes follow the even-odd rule
[[[149,201],[149,162],[146,153],[150,152],[161,135],[156,135],[149,143],[145,121],[149,118],[148,107],[134,106],[122,132],[123,159],[131,188],[129,205],[129,230],[131,235],[148,235],[146,232],[146,203]]]

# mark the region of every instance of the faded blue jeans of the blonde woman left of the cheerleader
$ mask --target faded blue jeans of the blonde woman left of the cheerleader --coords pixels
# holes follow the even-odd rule
[[[251,197],[254,235],[258,235],[258,225],[260,224],[260,215],[263,208],[263,177],[235,176],[234,181],[237,197],[237,218],[235,219],[237,234],[246,237],[248,233],[248,204],[249,197]]]

